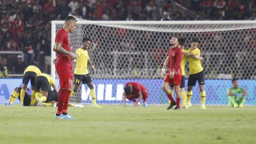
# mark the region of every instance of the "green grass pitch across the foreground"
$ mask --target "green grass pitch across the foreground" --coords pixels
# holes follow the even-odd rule
[[[69,108],[75,120],[54,119],[53,107],[0,107],[1,144],[251,144],[256,142],[256,107],[208,106],[166,110]]]

